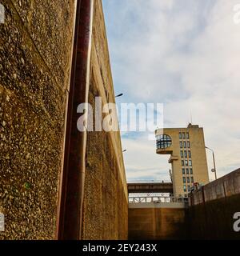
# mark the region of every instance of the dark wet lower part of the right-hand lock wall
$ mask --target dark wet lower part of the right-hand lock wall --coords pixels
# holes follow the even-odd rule
[[[191,239],[240,239],[234,231],[234,213],[240,211],[240,194],[191,206],[187,213]]]

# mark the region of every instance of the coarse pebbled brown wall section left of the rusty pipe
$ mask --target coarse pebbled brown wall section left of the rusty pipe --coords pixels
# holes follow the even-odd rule
[[[74,0],[0,2],[0,239],[52,239]]]

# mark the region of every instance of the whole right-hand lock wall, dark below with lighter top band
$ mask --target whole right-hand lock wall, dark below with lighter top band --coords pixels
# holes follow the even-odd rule
[[[190,205],[190,238],[240,239],[240,233],[233,228],[234,213],[240,211],[240,170],[195,191]]]

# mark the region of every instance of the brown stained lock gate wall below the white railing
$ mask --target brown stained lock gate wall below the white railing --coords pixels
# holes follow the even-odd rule
[[[130,203],[129,238],[156,240],[186,238],[184,204]]]

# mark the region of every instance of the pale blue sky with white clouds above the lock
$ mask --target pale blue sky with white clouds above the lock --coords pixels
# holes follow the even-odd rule
[[[165,127],[192,116],[218,176],[240,167],[240,0],[102,2],[118,103],[163,103]],[[128,180],[169,179],[146,133],[122,133],[122,147]]]

